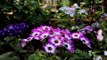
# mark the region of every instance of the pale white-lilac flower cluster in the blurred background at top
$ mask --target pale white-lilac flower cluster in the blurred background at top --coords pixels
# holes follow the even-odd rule
[[[74,17],[74,15],[76,14],[85,14],[87,15],[87,11],[85,9],[80,9],[80,7],[78,6],[78,4],[74,4],[71,7],[68,6],[62,6],[59,8],[60,11],[63,11],[65,14],[70,15],[71,17]]]

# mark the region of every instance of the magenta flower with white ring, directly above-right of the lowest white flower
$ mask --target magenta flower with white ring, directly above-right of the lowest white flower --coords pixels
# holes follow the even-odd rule
[[[49,38],[49,42],[55,46],[61,46],[64,38],[60,36],[54,36]]]

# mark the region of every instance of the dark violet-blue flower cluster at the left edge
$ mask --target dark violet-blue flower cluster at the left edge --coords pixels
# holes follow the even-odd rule
[[[15,36],[19,33],[22,33],[25,29],[29,26],[26,23],[17,23],[17,24],[10,24],[4,29],[0,30],[0,37],[4,36]]]

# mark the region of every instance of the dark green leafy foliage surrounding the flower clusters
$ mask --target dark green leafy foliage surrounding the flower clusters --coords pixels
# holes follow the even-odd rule
[[[74,17],[59,10],[62,6],[72,7],[74,2],[80,6],[76,9]],[[14,36],[0,37],[0,60],[92,60],[99,55],[106,60],[104,51],[107,51],[107,13],[102,12],[98,5],[100,2],[100,0],[66,0],[66,2],[57,2],[57,6],[45,6],[41,0],[1,0],[0,33],[7,26],[21,22],[26,22],[29,28]],[[86,10],[88,15],[78,14],[77,12],[81,9]],[[21,47],[21,39],[28,37],[34,27],[41,25],[67,28],[71,32],[81,31],[86,26],[91,26],[93,31],[84,35],[91,40],[92,49],[83,46],[81,42],[76,42],[73,54],[64,49],[59,49],[61,51],[56,54],[47,54],[40,49],[41,43],[35,40],[29,42],[24,48]],[[103,30],[102,41],[96,36],[99,29]],[[9,32],[9,29],[6,32]]]

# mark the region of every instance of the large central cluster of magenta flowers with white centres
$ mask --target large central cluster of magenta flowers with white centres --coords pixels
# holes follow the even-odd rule
[[[34,28],[28,38],[22,39],[21,46],[24,47],[31,40],[40,40],[43,42],[46,38],[48,38],[48,42],[43,45],[43,48],[47,53],[55,53],[59,47],[65,47],[73,53],[74,40],[80,40],[87,47],[91,48],[90,40],[83,33],[79,31],[71,33],[68,29],[52,28],[51,26]]]

